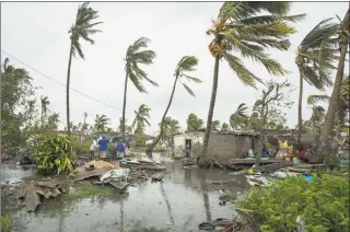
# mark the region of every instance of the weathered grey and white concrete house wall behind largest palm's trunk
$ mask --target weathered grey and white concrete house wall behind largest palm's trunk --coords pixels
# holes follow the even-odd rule
[[[175,158],[185,156],[185,139],[192,140],[191,156],[201,154],[205,132],[188,132],[174,137]],[[209,156],[218,155],[220,160],[246,158],[250,148],[257,149],[258,138],[247,135],[212,132],[209,139]]]

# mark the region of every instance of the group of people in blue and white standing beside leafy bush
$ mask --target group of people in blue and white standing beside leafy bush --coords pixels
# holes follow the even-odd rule
[[[97,140],[97,136],[95,135],[92,138],[93,140],[90,147],[91,159],[95,158],[95,152],[98,152],[98,158],[102,158],[102,159],[106,158],[109,140],[106,139],[106,137],[104,136],[100,137],[98,140]],[[117,159],[129,156],[128,146],[126,146],[121,139],[119,139],[119,141],[116,142],[114,150],[116,151]]]

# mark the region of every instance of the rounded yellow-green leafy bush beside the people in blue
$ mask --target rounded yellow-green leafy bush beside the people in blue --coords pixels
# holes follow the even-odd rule
[[[74,158],[70,139],[65,136],[43,136],[36,146],[34,159],[43,174],[60,174],[72,171]]]

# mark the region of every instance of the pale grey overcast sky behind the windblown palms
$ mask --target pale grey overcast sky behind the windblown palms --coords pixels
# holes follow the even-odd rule
[[[151,127],[148,132],[158,130],[158,124],[168,102],[174,69],[183,56],[192,55],[199,58],[195,77],[203,83],[189,83],[196,97],[191,97],[178,85],[168,116],[179,120],[186,127],[190,113],[205,121],[209,109],[214,59],[208,50],[210,36],[206,31],[211,20],[218,15],[220,2],[96,2],[91,7],[100,11],[98,26],[103,31],[93,35],[95,45],[82,43],[85,60],[73,59],[71,68],[71,88],[94,98],[115,106],[107,107],[71,91],[71,120],[75,124],[83,120],[88,112],[88,123],[93,123],[96,114],[105,114],[112,119],[110,126],[116,129],[121,116],[124,94],[124,57],[127,47],[141,36],[151,39],[150,48],[156,51],[154,65],[144,68],[149,77],[160,86],[147,84],[149,94],[139,93],[129,84],[126,118],[133,119],[141,104],[151,107]],[[1,3],[1,49],[24,63],[39,70],[46,76],[66,83],[69,56],[68,30],[74,21],[77,2],[7,2]],[[291,36],[289,51],[271,50],[271,57],[279,60],[283,68],[291,71],[285,78],[299,86],[299,72],[294,63],[295,50],[303,37],[319,21],[338,14],[343,18],[347,2],[295,2],[291,14],[306,13],[303,22],[294,24],[298,33]],[[5,58],[1,53],[1,61]],[[21,63],[11,59],[18,66]],[[269,80],[271,77],[262,66],[245,60],[246,66],[258,77]],[[34,78],[35,85],[42,86],[37,97],[49,97],[49,108],[60,113],[66,123],[66,89],[39,73],[27,69]],[[283,78],[281,79],[281,81]],[[304,85],[303,117],[311,116],[306,107],[306,97],[319,93],[307,84]],[[329,90],[328,90],[329,93]],[[225,62],[221,62],[217,104],[213,119],[229,121],[230,115],[240,103],[254,104],[260,90],[244,86],[236,74]],[[298,91],[290,97],[294,106],[285,109],[288,125],[294,127],[298,121]],[[61,128],[63,128],[63,124]]]

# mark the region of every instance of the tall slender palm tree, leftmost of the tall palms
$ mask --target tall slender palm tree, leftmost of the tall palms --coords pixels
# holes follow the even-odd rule
[[[98,19],[98,11],[89,8],[89,2],[84,2],[79,5],[74,24],[70,27],[68,33],[70,34],[70,50],[67,71],[67,130],[70,135],[70,107],[69,107],[69,86],[70,86],[70,68],[72,63],[72,57],[77,57],[77,53],[80,58],[84,59],[84,54],[81,49],[80,39],[90,42],[92,45],[95,43],[90,38],[90,35],[101,32],[93,27],[102,22],[93,22]]]

